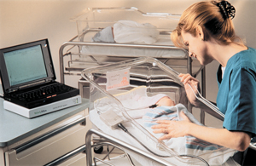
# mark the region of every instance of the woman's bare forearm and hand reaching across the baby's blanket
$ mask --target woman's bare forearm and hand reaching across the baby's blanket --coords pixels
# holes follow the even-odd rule
[[[183,121],[158,121],[159,124],[152,127],[154,133],[166,133],[166,135],[160,137],[160,140],[190,135],[237,151],[245,151],[250,144],[251,137],[245,132],[208,128],[191,123],[183,112],[181,112],[181,116],[184,119]]]

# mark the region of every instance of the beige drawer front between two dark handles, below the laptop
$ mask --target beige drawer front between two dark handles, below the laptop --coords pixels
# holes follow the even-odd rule
[[[15,150],[5,152],[7,165],[44,165],[61,157],[67,152],[84,145],[85,133],[90,125],[77,124],[59,135],[38,143],[22,152]]]

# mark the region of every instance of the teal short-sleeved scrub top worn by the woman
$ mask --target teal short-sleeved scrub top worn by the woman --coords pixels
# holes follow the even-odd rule
[[[218,67],[217,106],[223,127],[256,135],[256,49],[248,48],[228,60],[222,79]]]

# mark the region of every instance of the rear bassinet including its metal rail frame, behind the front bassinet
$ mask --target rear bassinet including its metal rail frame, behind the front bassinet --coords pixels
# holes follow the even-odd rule
[[[189,57],[187,50],[175,47],[170,37],[179,17],[180,14],[145,13],[137,8],[84,9],[81,14],[71,19],[77,24],[78,36],[63,43],[60,48],[61,82],[64,83],[64,75],[77,74],[85,68],[115,64],[143,56],[156,58],[178,72],[188,72],[196,76],[203,67],[198,60]],[[132,26],[134,28],[132,30],[137,32],[136,37],[141,37],[143,31],[154,29],[159,32],[158,37],[155,38],[154,43],[137,43],[137,39],[130,43],[92,40],[97,33],[109,26],[113,27],[119,21],[134,21],[139,25],[150,24],[151,26]],[[123,35],[127,32],[125,30]]]

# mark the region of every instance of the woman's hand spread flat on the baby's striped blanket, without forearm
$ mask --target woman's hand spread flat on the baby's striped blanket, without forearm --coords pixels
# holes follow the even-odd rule
[[[153,132],[155,134],[166,134],[160,137],[159,140],[169,140],[171,138],[188,135],[189,123],[191,123],[191,121],[189,120],[189,117],[187,117],[183,112],[180,113],[180,116],[183,117],[182,121],[160,120],[156,122],[159,124],[151,127],[154,129]]]

